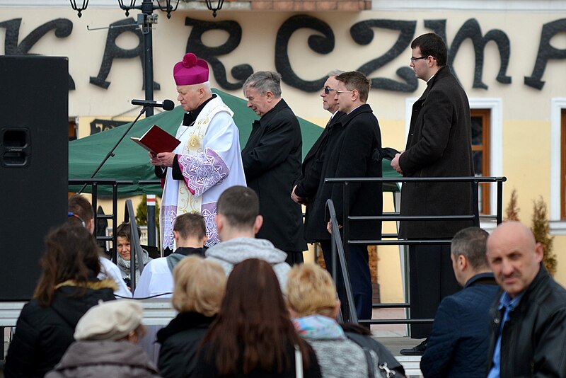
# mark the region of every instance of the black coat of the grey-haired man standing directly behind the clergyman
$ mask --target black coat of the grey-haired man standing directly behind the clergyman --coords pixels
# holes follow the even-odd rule
[[[242,151],[248,187],[260,197],[263,226],[259,239],[282,251],[304,251],[303,212],[291,200],[301,171],[302,136],[299,120],[283,99],[252,125]]]

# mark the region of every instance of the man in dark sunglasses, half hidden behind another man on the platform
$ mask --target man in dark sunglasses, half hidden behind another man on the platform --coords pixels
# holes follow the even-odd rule
[[[322,188],[322,185],[324,185],[324,177],[320,173],[322,172],[323,162],[327,154],[326,147],[328,141],[335,139],[343,130],[342,127],[334,127],[335,123],[345,115],[345,113],[338,110],[337,98],[335,96],[338,86],[336,76],[343,72],[337,69],[328,72],[328,79],[320,91],[320,97],[323,101],[323,108],[332,115],[320,137],[318,137],[313,147],[306,154],[301,166],[301,176],[299,176],[291,192],[291,199],[294,202],[306,206],[304,237],[308,242],[320,243],[325,256],[325,263],[329,270],[330,248],[324,248],[324,246],[330,246],[330,234],[326,231],[325,221],[325,203],[328,197],[320,195],[319,188]]]

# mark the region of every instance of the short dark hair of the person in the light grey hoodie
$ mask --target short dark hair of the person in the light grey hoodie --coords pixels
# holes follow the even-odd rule
[[[260,214],[260,200],[250,188],[231,186],[220,195],[216,212],[225,217],[231,227],[253,227],[255,218]]]

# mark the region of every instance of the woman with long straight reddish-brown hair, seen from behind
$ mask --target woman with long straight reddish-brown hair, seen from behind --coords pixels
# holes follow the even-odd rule
[[[219,314],[204,337],[195,377],[320,377],[311,347],[297,335],[277,276],[264,260],[237,264]],[[297,375],[298,377],[298,375]]]

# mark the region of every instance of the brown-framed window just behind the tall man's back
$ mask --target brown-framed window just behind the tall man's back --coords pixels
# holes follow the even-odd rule
[[[472,156],[475,176],[490,176],[490,109],[471,109]],[[480,214],[490,214],[490,184],[478,188]]]

